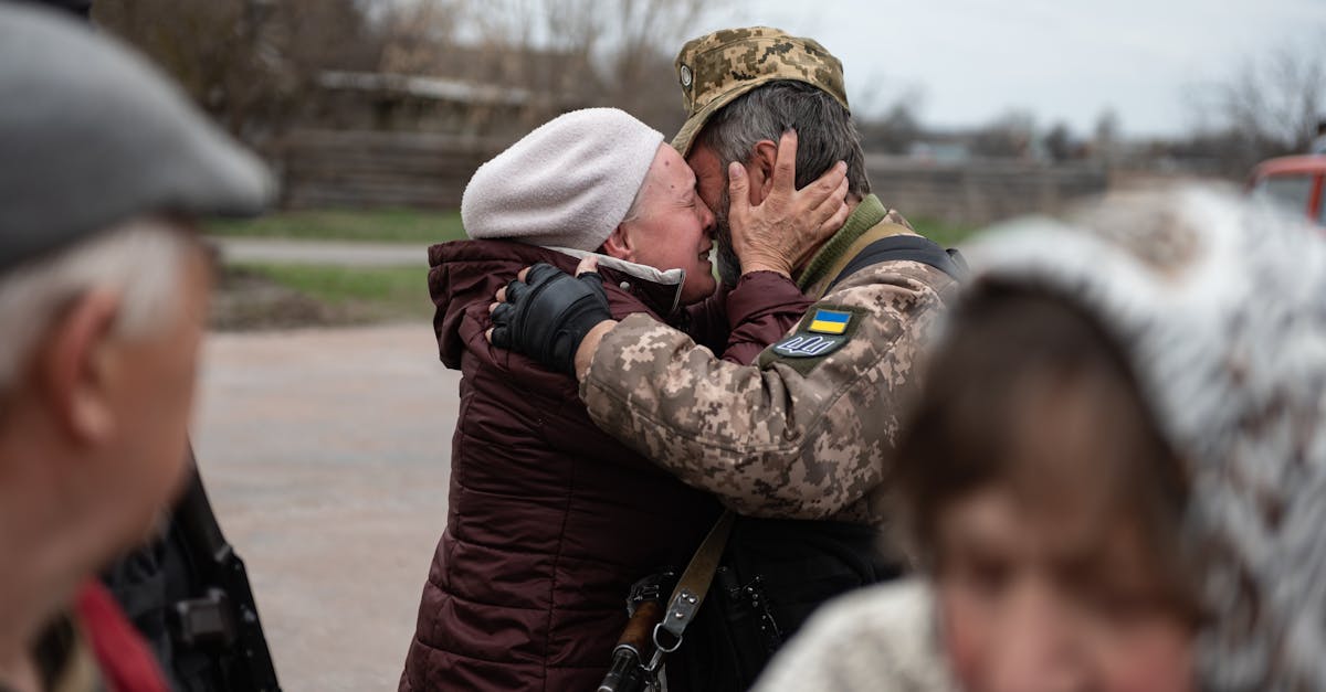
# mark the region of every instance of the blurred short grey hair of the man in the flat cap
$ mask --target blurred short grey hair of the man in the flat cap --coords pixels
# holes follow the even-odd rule
[[[179,277],[192,240],[166,219],[145,217],[0,277],[0,400],[60,312],[93,289],[119,293],[114,333],[150,335],[180,309]]]

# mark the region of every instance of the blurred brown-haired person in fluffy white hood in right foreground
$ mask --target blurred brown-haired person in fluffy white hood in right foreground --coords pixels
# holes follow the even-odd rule
[[[1326,689],[1326,245],[1220,194],[971,251],[900,444],[928,579],[764,689]]]

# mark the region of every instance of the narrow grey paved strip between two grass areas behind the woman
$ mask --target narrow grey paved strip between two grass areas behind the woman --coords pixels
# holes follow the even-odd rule
[[[350,243],[213,237],[231,262],[332,264],[343,266],[427,266],[428,248],[419,243]]]

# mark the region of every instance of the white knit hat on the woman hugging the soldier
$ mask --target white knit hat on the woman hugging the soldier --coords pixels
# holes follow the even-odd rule
[[[558,115],[475,171],[460,200],[472,239],[594,251],[622,223],[663,134],[618,109]]]

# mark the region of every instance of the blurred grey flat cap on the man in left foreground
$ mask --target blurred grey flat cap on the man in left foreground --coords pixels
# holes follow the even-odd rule
[[[146,60],[0,0],[0,273],[146,213],[256,215],[273,192]]]

